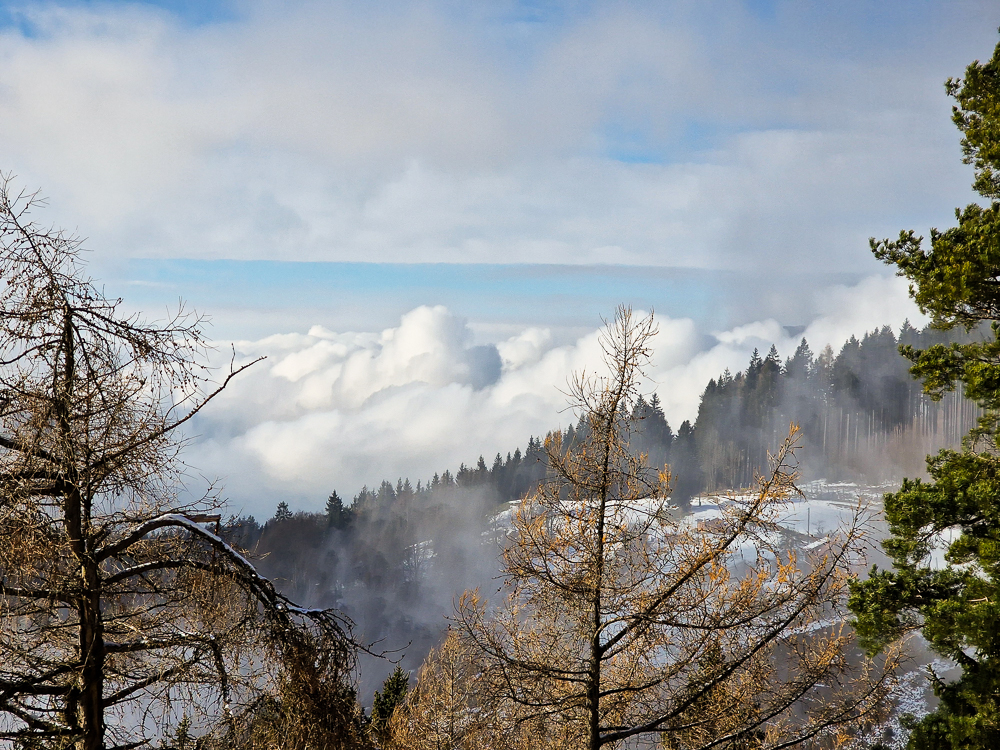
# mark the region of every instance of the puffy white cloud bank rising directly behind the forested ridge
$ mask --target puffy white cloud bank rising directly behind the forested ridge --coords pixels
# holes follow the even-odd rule
[[[817,353],[876,326],[924,322],[896,278],[826,296],[830,314],[804,333]],[[754,348],[766,353],[773,343],[784,357],[799,341],[774,320],[710,336],[690,319],[660,318],[659,329],[645,387],[675,429],[694,420],[709,378],[745,368]],[[525,327],[477,346],[466,320],[422,306],[378,333],[315,326],[233,342],[238,361],[267,359],[199,417],[188,462],[220,477],[234,508],[263,518],[279,500],[319,510],[334,489],[352,496],[384,478],[426,480],[480,454],[489,463],[530,435],[575,422],[561,389],[573,372],[601,370],[598,334],[560,345],[550,330]]]

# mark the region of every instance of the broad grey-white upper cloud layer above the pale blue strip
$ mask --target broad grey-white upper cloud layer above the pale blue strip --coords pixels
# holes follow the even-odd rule
[[[1000,13],[869,5],[22,2],[0,168],[119,256],[874,270]]]

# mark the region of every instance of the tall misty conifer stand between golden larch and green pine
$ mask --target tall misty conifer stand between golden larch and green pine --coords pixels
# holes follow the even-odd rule
[[[755,350],[746,370],[708,383],[693,450],[681,426],[675,499],[749,485],[791,422],[803,430],[799,456],[810,478],[877,483],[922,473],[924,456],[958,445],[980,412],[960,388],[929,398],[899,349],[979,338],[906,324],[898,336],[888,326],[852,336],[836,356],[829,346],[814,356],[805,339],[784,363],[773,346],[763,358]]]

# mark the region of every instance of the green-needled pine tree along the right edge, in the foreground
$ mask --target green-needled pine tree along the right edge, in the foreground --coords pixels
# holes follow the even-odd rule
[[[964,160],[976,170],[974,187],[990,205],[971,204],[956,211],[958,226],[932,229],[929,251],[912,231],[873,239],[872,249],[910,280],[935,328],[991,322],[988,337],[923,350],[901,332],[911,372],[932,398],[964,386],[985,415],[961,451],[928,459],[932,481],[907,479],[886,495],[891,536],[883,546],[893,570],[873,569],[851,600],[869,651],[919,629],[961,667],[952,682],[932,676],[941,702],[915,726],[915,750],[1000,747],[1000,45],[988,63],[972,63],[964,80],[949,79],[946,88],[957,101],[953,120]],[[941,546],[946,564],[932,568],[930,554]]]

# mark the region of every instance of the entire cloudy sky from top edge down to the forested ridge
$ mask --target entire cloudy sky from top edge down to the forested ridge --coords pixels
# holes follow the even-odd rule
[[[390,446],[385,475],[443,469],[558,420],[526,373],[557,388],[617,302],[672,332],[674,421],[782,326],[819,348],[915,317],[868,238],[973,199],[943,82],[998,26],[995,0],[0,2],[0,171],[129,309],[187,298],[270,353],[243,395],[285,395],[204,423],[204,471],[284,491],[261,435],[381,435],[307,502]],[[427,453],[386,426],[429,403],[509,432],[456,411]]]

